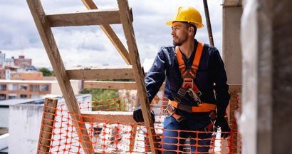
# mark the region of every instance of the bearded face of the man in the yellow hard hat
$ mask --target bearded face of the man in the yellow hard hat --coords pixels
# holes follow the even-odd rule
[[[174,46],[181,46],[187,41],[187,26],[182,22],[174,22],[172,24],[172,43]]]

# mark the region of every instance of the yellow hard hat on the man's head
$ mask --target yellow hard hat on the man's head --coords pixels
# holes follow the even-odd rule
[[[199,14],[199,11],[189,6],[179,7],[177,13],[174,14],[173,19],[171,21],[168,21],[166,24],[172,26],[172,23],[174,21],[187,22],[189,24],[197,24],[197,29],[200,29],[204,26],[202,24],[202,16],[201,14]]]

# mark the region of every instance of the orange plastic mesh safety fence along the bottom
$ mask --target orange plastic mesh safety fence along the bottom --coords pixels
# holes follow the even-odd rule
[[[167,106],[167,98],[163,96],[163,93],[159,93],[152,103],[151,108],[155,111],[155,132],[160,145],[163,144],[160,141],[163,132],[163,121],[165,116],[163,115],[163,109]],[[136,96],[125,96],[123,98],[115,98],[106,101],[92,101],[85,103],[78,103],[81,113],[83,111],[130,111],[135,108]],[[229,107],[230,113],[234,113],[239,108],[239,96],[231,94],[231,101]],[[69,113],[66,105],[58,104],[56,108],[55,118],[53,119],[53,131],[44,132],[51,134],[51,145],[47,145],[50,148],[49,153],[84,153],[78,134],[72,122],[71,116],[78,116],[81,119],[86,118],[84,115],[77,115],[75,113]],[[214,138],[209,145],[209,153],[241,153],[241,138],[237,133],[237,125],[235,118],[229,118],[229,124],[231,127],[231,138],[222,139],[220,133],[214,133]],[[102,121],[100,123],[94,122],[81,122],[85,123],[86,130],[88,132],[91,144],[95,153],[151,153],[150,144],[148,138],[150,134],[146,132],[145,125],[133,125],[129,123],[122,123],[120,121],[108,120],[108,119],[95,119],[92,121]],[[78,118],[77,118],[78,119]],[[52,120],[52,119],[43,119]],[[44,125],[42,124],[41,127]],[[45,130],[41,130],[45,131]],[[178,133],[182,130],[176,130]],[[42,132],[41,132],[42,133]],[[194,131],[193,133],[206,133]],[[197,135],[198,136],[198,135]],[[40,139],[43,139],[40,136]],[[184,153],[188,153],[189,140],[199,140],[199,138],[188,138],[184,145]],[[176,143],[178,144],[178,143]],[[195,145],[199,146],[199,145]],[[178,152],[178,150],[175,150]],[[43,151],[38,149],[38,153]]]

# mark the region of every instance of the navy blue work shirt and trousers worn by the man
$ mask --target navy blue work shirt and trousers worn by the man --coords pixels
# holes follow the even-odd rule
[[[194,51],[189,59],[186,59],[184,54],[182,54],[187,68],[192,66],[194,60],[194,54],[198,44],[196,39],[194,39],[194,43]],[[183,82],[177,58],[175,56],[174,46],[160,48],[150,71],[147,72],[145,84],[147,88],[147,96],[150,102],[159,91],[163,81],[165,81],[165,96],[173,101]],[[201,100],[206,103],[217,104],[217,114],[221,115],[224,115],[230,99],[228,92],[229,86],[226,81],[227,78],[224,63],[219,51],[214,46],[204,44],[194,82],[202,92]],[[197,106],[188,94],[182,98],[181,103],[189,106]],[[165,131],[162,135],[162,153],[174,153],[174,151],[178,150],[182,151],[183,146],[179,144],[184,144],[185,138],[196,137],[195,133],[187,133],[185,131],[179,131],[178,133],[177,130],[203,130],[210,123],[209,113],[188,113],[178,109],[176,110],[176,113],[185,119],[184,125],[180,125],[172,116],[165,118]],[[177,138],[178,134],[180,137],[179,140]],[[202,139],[198,142],[199,148],[194,146],[196,140],[190,140],[191,150],[193,152],[195,150],[198,150],[199,152],[207,152],[209,150],[212,133],[199,133],[198,137]],[[204,140],[206,138],[207,140]]]

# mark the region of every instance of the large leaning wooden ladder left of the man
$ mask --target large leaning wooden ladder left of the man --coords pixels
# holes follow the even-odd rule
[[[149,135],[150,147],[152,153],[157,153],[157,141],[155,138],[155,129],[153,121],[150,116],[150,103],[147,98],[144,71],[140,64],[139,53],[137,44],[135,41],[134,29],[132,27],[132,11],[128,6],[127,0],[118,0],[118,9],[110,10],[98,10],[92,0],[82,0],[88,11],[76,11],[67,14],[45,14],[43,6],[40,0],[26,0],[28,7],[31,10],[31,14],[36,23],[38,33],[41,36],[43,45],[46,48],[46,53],[53,67],[54,73],[58,84],[63,93],[63,97],[66,101],[68,111],[71,113],[71,118],[78,137],[80,138],[81,145],[86,154],[95,153],[93,150],[93,144],[88,136],[88,130],[85,127],[84,122],[90,122],[93,118],[82,117],[95,117],[95,118],[110,118],[110,116],[120,117],[127,119],[126,123],[135,123],[132,120],[132,113],[81,113],[73,88],[71,86],[71,79],[78,80],[96,80],[97,78],[111,78],[111,79],[124,79],[135,78],[135,85],[137,88],[137,95],[140,99],[143,118],[145,119],[145,126]],[[122,44],[118,36],[115,34],[110,24],[122,24],[123,31],[125,33],[125,39],[127,40],[127,47]],[[101,29],[108,36],[115,48],[118,50],[122,58],[127,63],[125,67],[117,68],[78,68],[66,70],[61,55],[58,51],[56,41],[53,37],[51,27],[58,26],[89,26],[99,25]],[[104,111],[105,112],[105,111]],[[128,117],[128,118],[125,118]],[[92,120],[91,120],[92,121]],[[95,122],[95,121],[93,121]],[[121,121],[122,122],[122,121]]]

